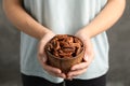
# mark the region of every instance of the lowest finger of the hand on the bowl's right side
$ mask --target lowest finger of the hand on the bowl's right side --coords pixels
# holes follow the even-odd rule
[[[67,74],[67,76],[68,76],[68,78],[73,78],[74,76],[80,75],[80,74],[84,73],[86,71],[87,71],[87,68],[82,69],[82,70],[70,71]]]

